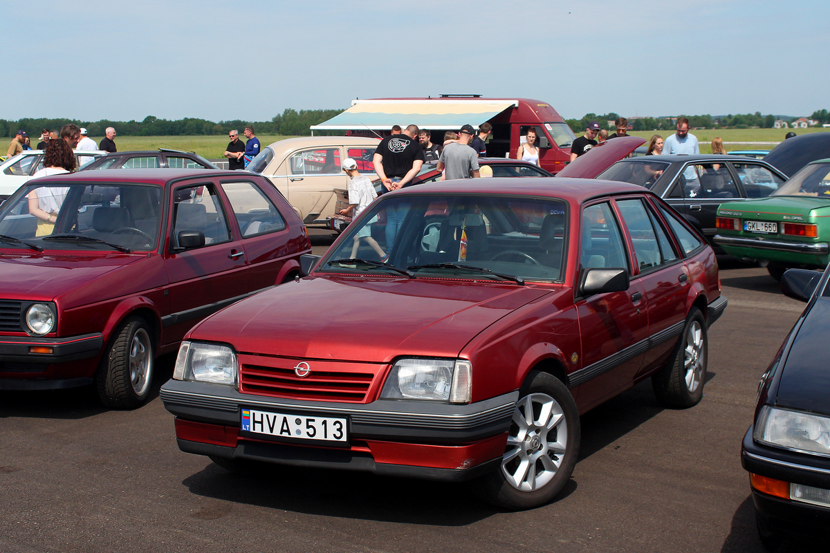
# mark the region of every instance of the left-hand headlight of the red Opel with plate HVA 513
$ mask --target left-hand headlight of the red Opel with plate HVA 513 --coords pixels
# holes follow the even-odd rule
[[[236,386],[237,355],[230,347],[219,344],[182,342],[173,379]]]

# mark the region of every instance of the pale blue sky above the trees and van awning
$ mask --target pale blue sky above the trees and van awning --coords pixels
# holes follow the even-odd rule
[[[442,93],[540,99],[564,118],[830,109],[827,0],[7,0],[0,13],[0,119],[261,121]]]

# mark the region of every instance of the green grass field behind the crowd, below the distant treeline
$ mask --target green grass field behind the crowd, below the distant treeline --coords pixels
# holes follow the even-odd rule
[[[701,143],[701,153],[711,153],[712,138],[720,136],[724,141],[727,151],[729,150],[748,150],[748,149],[764,149],[771,150],[775,144],[784,140],[784,134],[793,129],[693,129],[691,132],[697,137]],[[820,133],[828,132],[830,129],[813,128],[813,129],[797,129],[795,133]],[[638,131],[632,133],[634,136],[652,138],[654,131]],[[666,138],[670,132],[661,131],[663,138]],[[90,137],[96,143],[100,142],[103,137]],[[260,134],[256,138],[260,139],[263,147],[274,143],[283,138],[293,138],[290,136],[279,136],[274,134]],[[244,140],[242,136],[239,138]],[[116,136],[115,144],[122,152],[128,150],[154,150],[156,148],[173,148],[177,150],[186,150],[188,152],[198,153],[203,158],[219,159],[222,158],[222,153],[227,147],[227,135],[217,136]]]

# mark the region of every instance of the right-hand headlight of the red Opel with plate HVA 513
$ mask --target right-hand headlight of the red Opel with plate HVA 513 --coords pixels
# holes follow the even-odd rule
[[[471,363],[463,359],[400,359],[380,396],[387,400],[470,402]]]

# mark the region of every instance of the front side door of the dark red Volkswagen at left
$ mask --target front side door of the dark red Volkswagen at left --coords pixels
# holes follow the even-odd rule
[[[163,318],[167,342],[180,340],[202,318],[250,291],[247,260],[238,230],[228,217],[217,183],[198,181],[168,189],[165,255],[170,313]],[[204,242],[182,245],[182,232]]]

